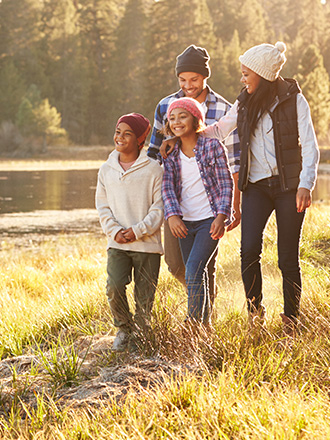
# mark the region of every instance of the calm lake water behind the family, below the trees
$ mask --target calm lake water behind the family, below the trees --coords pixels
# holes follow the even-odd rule
[[[0,214],[94,208],[97,169],[1,171]],[[313,200],[330,200],[330,175],[321,174]]]

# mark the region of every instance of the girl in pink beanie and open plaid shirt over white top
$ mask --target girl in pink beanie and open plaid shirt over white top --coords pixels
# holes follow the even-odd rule
[[[207,264],[225,226],[232,220],[233,180],[224,147],[200,136],[205,128],[201,105],[192,98],[172,102],[167,134],[177,136],[174,152],[164,161],[164,214],[179,238],[188,290],[188,319],[210,321]]]

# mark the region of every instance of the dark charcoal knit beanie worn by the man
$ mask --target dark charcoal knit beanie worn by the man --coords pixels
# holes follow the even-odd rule
[[[182,72],[195,72],[208,78],[211,75],[209,60],[206,49],[192,44],[176,57],[176,76]]]

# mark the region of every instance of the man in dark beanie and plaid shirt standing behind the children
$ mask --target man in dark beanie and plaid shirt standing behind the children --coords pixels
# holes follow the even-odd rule
[[[180,90],[163,98],[156,107],[154,126],[148,149],[150,157],[159,159],[159,148],[164,140],[164,136],[159,131],[165,125],[167,109],[174,100],[186,96],[200,102],[205,111],[205,123],[207,125],[218,121],[230,109],[229,102],[207,85],[207,78],[211,74],[209,60],[210,57],[207,50],[195,45],[187,47],[177,56],[175,70]],[[228,136],[225,145],[228,149],[229,164],[235,182],[235,221],[227,228],[227,231],[229,231],[239,225],[241,218],[240,193],[237,188],[240,148],[236,130]],[[164,247],[165,261],[169,271],[185,286],[185,266],[181,256],[179,241],[172,235],[166,221],[164,224]],[[208,266],[210,301],[212,305],[215,299],[216,257],[217,255],[214,255]]]

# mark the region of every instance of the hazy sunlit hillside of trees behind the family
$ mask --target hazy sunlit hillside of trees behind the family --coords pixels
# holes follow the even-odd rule
[[[151,121],[178,89],[175,58],[189,44],[211,56],[210,86],[234,101],[238,56],[282,40],[329,141],[330,2],[325,0],[0,0],[0,153],[109,144],[117,118]]]

